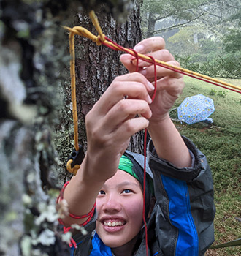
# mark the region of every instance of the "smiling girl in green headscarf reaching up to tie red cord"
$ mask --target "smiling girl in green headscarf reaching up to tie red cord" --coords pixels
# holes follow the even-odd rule
[[[145,39],[134,50],[179,65],[161,37]],[[157,67],[152,102],[153,65],[139,61],[139,72],[134,72],[132,56],[124,54],[120,61],[130,73],[115,78],[86,116],[88,150],[62,193],[71,213],[62,219],[64,225],[84,225],[88,232],[74,235],[72,255],[146,255],[144,157],[126,151],[131,135],[145,128],[151,137],[145,194],[148,254],[204,255],[213,243],[215,215],[210,167],[169,118],[183,76]]]

